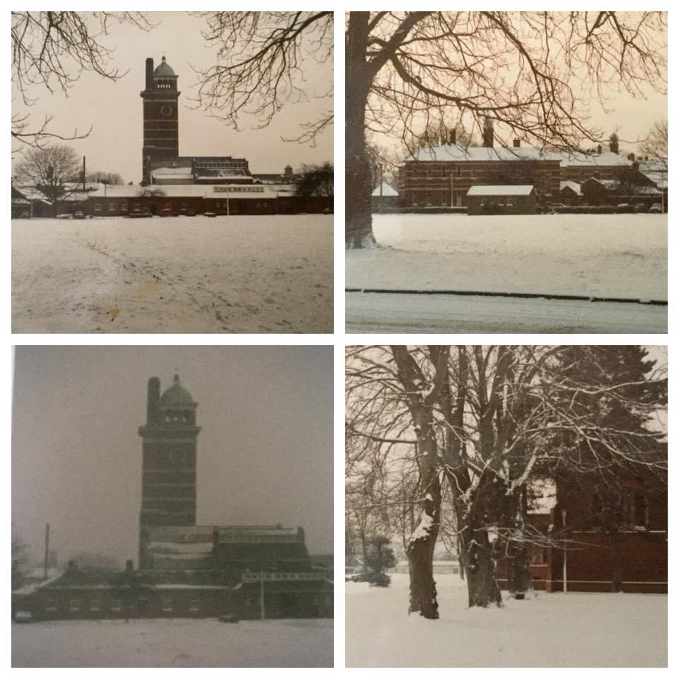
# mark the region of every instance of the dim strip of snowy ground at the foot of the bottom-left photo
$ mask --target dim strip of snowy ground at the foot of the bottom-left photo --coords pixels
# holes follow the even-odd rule
[[[332,620],[32,622],[13,667],[332,667]]]

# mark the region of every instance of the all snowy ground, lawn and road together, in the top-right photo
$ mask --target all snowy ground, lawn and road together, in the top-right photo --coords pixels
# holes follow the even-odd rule
[[[667,300],[665,214],[390,214],[373,226],[381,247],[347,252],[347,289]],[[602,305],[350,292],[347,330],[666,332],[666,307]]]

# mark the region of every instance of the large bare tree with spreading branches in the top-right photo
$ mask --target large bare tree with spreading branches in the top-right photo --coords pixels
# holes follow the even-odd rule
[[[663,12],[351,12],[345,57],[347,248],[375,242],[366,133],[407,146],[465,121],[538,146],[602,141],[590,102],[666,87]],[[501,132],[503,131],[504,132]]]

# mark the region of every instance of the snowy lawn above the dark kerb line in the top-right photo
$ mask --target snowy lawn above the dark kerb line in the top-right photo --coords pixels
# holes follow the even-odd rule
[[[347,288],[667,299],[666,214],[375,214]]]

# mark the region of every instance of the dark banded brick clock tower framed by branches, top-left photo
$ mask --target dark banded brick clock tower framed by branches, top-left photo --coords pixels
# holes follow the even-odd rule
[[[146,59],[144,100],[144,146],[141,149],[141,181],[149,184],[153,161],[172,161],[179,156],[179,111],[177,76],[166,62],[153,69]]]

